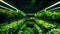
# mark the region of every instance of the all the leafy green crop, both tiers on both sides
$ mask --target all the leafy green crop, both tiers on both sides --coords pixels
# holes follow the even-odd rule
[[[30,19],[20,10],[0,9],[0,19],[0,34],[60,34],[60,12],[43,11]]]

